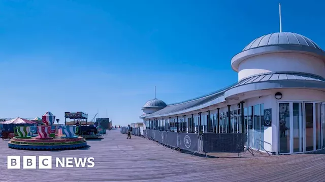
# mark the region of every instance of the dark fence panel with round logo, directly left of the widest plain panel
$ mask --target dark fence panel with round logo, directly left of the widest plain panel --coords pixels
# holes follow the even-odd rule
[[[191,152],[199,152],[199,134],[196,133],[178,133],[179,148]]]

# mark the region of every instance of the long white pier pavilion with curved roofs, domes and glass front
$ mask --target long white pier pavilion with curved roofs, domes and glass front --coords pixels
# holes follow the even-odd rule
[[[231,67],[236,84],[176,104],[148,101],[144,128],[245,132],[246,146],[274,154],[325,148],[325,52],[313,40],[266,34],[235,55]]]

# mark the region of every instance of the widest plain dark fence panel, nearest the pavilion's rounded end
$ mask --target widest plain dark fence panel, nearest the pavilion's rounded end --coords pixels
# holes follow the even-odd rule
[[[202,152],[243,152],[243,133],[203,133]]]

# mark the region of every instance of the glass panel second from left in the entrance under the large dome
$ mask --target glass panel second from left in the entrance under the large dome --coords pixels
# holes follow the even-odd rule
[[[303,152],[303,104],[293,103],[294,152]]]

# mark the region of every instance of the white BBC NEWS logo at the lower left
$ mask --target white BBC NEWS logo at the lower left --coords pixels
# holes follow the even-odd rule
[[[7,156],[7,169],[20,169],[20,156]],[[23,156],[23,169],[36,169],[37,161],[39,169],[52,169],[52,156]],[[56,157],[55,167],[94,167],[93,157]]]

